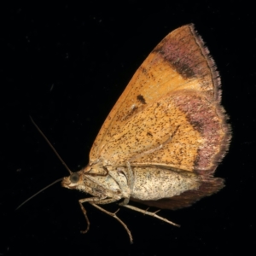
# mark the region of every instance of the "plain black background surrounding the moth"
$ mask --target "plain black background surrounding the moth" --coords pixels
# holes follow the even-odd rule
[[[86,1],[2,6],[0,31],[0,255],[235,255],[255,242],[254,7],[247,1]],[[178,26],[195,23],[222,78],[230,152],[216,176],[226,187],[162,223],[121,208],[134,244],[113,218],[60,183],[15,211],[67,170],[32,125],[44,131],[73,171],[125,85],[148,53]],[[118,206],[107,206],[115,211]]]

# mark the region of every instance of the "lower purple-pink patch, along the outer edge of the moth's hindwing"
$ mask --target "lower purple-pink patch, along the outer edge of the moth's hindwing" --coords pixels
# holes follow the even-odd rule
[[[177,108],[185,113],[189,123],[199,131],[204,143],[198,148],[195,171],[214,172],[216,155],[224,147],[223,121],[217,115],[217,107],[207,98],[192,91],[182,91],[173,95]]]

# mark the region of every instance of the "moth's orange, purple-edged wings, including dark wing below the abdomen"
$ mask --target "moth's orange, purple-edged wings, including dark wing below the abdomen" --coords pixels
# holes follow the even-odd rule
[[[201,177],[199,189],[141,201],[149,206],[187,207],[218,191],[223,180],[212,174],[230,143],[219,87],[214,62],[194,26],[177,28],[148,55],[108,114],[89,166],[129,161],[131,167],[158,166]]]

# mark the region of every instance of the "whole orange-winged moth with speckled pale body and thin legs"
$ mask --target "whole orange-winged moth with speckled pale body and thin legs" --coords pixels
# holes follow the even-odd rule
[[[143,61],[108,114],[90,149],[90,162],[70,172],[62,186],[90,197],[84,203],[118,218],[102,205],[179,209],[224,187],[213,177],[230,144],[230,125],[220,105],[220,79],[214,61],[193,24],[169,33]],[[177,224],[175,224],[177,225]]]

